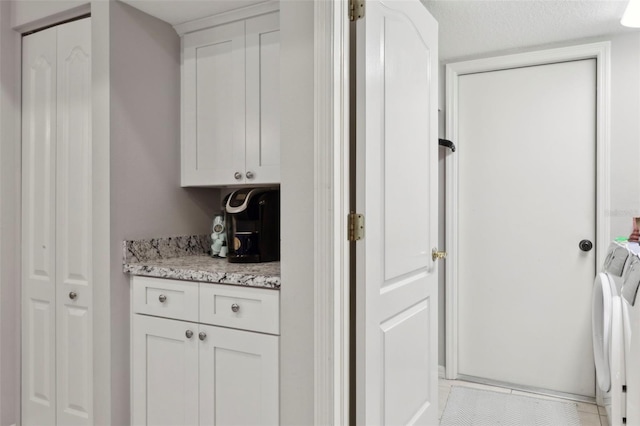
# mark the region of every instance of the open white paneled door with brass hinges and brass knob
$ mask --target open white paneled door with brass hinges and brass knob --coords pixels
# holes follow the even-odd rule
[[[356,25],[357,423],[437,424],[437,23],[385,0]]]

